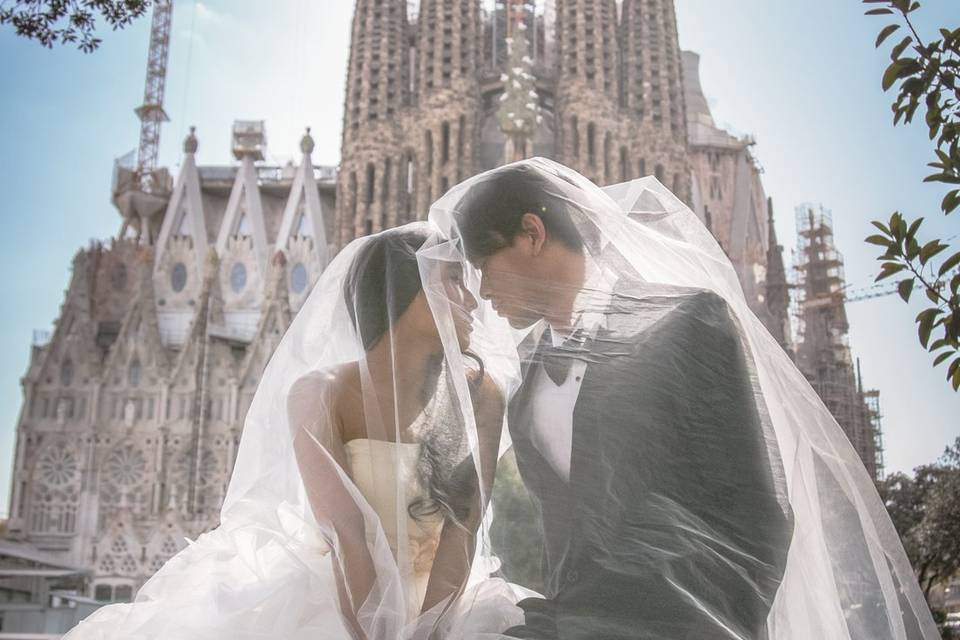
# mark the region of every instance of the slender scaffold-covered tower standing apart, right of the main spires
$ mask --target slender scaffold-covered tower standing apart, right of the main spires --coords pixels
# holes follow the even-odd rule
[[[833,239],[833,215],[821,205],[797,207],[797,365],[856,449],[879,477],[882,460],[879,393],[864,392],[850,353],[843,256]]]

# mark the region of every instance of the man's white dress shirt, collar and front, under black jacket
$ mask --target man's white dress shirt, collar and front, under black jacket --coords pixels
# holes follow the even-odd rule
[[[574,301],[573,328],[566,332],[555,330],[550,325],[541,331],[550,332],[553,346],[558,347],[577,329],[583,329],[594,337],[606,324],[606,311],[613,293],[614,276],[601,269],[587,256],[584,286]],[[540,338],[543,334],[541,333]],[[539,342],[539,340],[537,341]],[[544,371],[543,366],[531,367],[529,375],[532,400],[530,440],[550,466],[566,482],[570,481],[570,456],[573,449],[573,410],[580,396],[583,373],[587,363],[575,359],[570,365],[563,384],[557,385]]]

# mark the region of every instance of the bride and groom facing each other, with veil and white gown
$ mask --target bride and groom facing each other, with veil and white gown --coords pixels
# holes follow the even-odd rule
[[[527,510],[498,498],[507,452]],[[337,256],[221,515],[67,638],[933,637],[869,476],[696,216],[539,158]]]

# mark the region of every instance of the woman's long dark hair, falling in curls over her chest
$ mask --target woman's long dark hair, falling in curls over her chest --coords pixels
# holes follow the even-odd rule
[[[347,271],[343,296],[364,351],[380,342],[423,289],[417,250],[427,238],[427,233],[420,229],[390,229],[371,236],[357,251]],[[478,385],[483,380],[483,361],[469,351],[464,355],[477,363],[479,374],[471,374],[468,379],[471,386]],[[438,384],[450,383],[442,374],[443,355],[439,354],[421,389],[424,404],[437,393]],[[437,424],[462,424],[451,420],[452,416],[434,418]],[[408,505],[412,517],[442,513],[459,523],[469,513],[477,486],[476,472],[470,458],[455,468],[445,468],[443,463],[455,455],[451,446],[451,434],[437,428],[427,430],[417,469],[429,497],[414,499]]]

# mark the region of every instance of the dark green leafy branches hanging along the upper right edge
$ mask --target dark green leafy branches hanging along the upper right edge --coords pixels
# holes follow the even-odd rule
[[[895,33],[905,34],[890,52],[890,65],[881,80],[883,90],[897,87],[893,102],[893,124],[913,121],[923,106],[924,120],[934,146],[934,169],[924,182],[950,185],[941,203],[944,215],[960,206],[960,28],[940,29],[940,39],[924,43],[913,26],[910,14],[920,8],[913,0],[863,0],[866,13],[893,15],[897,22],[877,34],[880,47]],[[934,354],[933,366],[948,362],[947,380],[960,389],[960,251],[935,238],[921,243],[918,232],[923,218],[907,220],[895,212],[888,222],[875,221],[880,231],[867,242],[883,247],[877,280],[900,278],[897,291],[905,302],[913,292],[923,291],[930,302],[916,318],[917,333],[924,349]],[[934,260],[934,258],[937,258]]]

